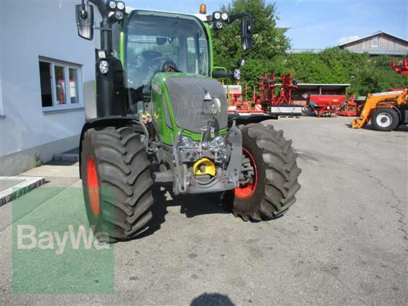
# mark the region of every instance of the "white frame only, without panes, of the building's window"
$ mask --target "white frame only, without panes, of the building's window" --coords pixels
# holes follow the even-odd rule
[[[82,84],[82,65],[74,64],[54,59],[48,59],[39,57],[38,62],[45,62],[50,64],[50,74],[51,74],[51,95],[53,100],[53,106],[42,107],[43,112],[54,112],[54,111],[63,111],[63,110],[75,110],[84,108],[84,88]],[[65,100],[66,104],[57,104],[57,88],[56,88],[56,78],[55,78],[55,66],[64,67],[65,69]],[[78,99],[79,103],[71,103],[70,88],[69,88],[69,69],[77,69],[77,78],[78,78]],[[41,80],[40,80],[41,82]],[[40,89],[41,93],[41,89]],[[42,106],[42,99],[41,99]]]

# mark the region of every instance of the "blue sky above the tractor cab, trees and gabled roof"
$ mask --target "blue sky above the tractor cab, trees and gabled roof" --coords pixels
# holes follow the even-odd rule
[[[196,14],[201,3],[207,12],[227,0],[127,0],[135,9]],[[292,48],[325,48],[378,31],[408,40],[408,0],[276,0],[278,27],[290,28]]]

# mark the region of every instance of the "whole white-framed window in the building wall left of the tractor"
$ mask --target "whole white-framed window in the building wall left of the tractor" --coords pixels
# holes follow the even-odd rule
[[[39,67],[44,111],[83,106],[81,66],[40,58]]]

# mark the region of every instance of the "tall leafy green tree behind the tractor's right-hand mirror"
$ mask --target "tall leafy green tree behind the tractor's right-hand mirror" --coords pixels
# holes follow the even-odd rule
[[[289,48],[285,31],[276,28],[277,15],[273,4],[264,0],[233,0],[228,6],[222,5],[221,12],[230,15],[247,12],[253,18],[252,49],[243,52],[240,41],[240,22],[224,25],[222,30],[213,31],[215,66],[232,68],[239,58],[246,64],[242,67],[242,81],[254,85],[258,77],[273,71],[275,57],[282,57]]]

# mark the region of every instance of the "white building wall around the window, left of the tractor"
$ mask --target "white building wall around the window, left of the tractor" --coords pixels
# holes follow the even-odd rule
[[[32,167],[35,154],[47,161],[78,146],[85,111],[43,112],[39,56],[82,65],[85,83],[94,79],[95,43],[78,36],[74,7],[80,1],[0,3],[0,174],[11,175]]]

